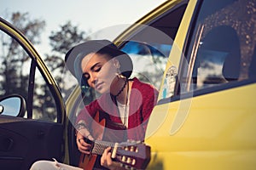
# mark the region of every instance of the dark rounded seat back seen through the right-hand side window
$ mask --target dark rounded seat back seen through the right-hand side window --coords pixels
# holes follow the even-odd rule
[[[205,85],[237,81],[241,71],[241,50],[239,38],[231,26],[217,26],[209,31],[202,40],[201,51],[207,51],[207,54],[201,54],[201,62],[205,60],[222,66],[219,70],[208,62],[207,67],[215,71],[215,75],[209,73]]]

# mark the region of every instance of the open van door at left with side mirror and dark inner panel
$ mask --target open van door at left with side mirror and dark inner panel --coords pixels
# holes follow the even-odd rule
[[[0,167],[27,170],[63,161],[65,108],[44,61],[24,35],[0,18]]]

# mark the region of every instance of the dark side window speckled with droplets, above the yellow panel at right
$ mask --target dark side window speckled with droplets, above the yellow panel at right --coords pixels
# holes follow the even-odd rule
[[[218,91],[255,78],[255,9],[248,0],[202,3],[180,93]]]

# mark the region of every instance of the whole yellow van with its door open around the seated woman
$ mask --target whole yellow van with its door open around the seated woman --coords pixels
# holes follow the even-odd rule
[[[132,76],[160,91],[147,169],[255,169],[255,22],[255,0],[170,0],[114,38]],[[77,166],[73,123],[90,92],[77,86],[65,101],[22,32],[0,18],[0,36],[0,168],[52,157]]]

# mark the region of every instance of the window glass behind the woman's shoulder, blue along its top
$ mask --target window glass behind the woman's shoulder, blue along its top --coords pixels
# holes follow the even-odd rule
[[[122,50],[131,56],[134,67],[131,77],[159,89],[171,47],[171,44],[127,42]]]

